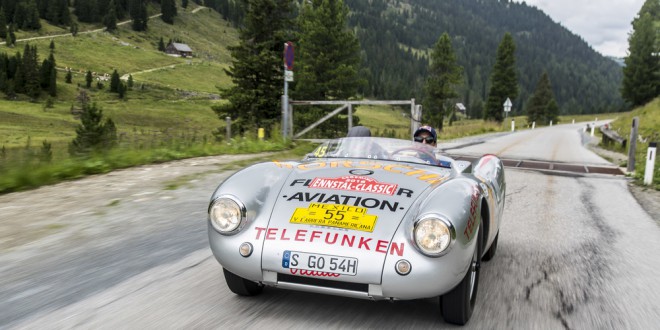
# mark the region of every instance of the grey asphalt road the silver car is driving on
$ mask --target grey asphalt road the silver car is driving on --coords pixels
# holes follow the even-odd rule
[[[478,148],[606,163],[582,147],[574,125],[452,151]],[[213,189],[231,174],[218,165],[232,159],[153,165],[0,196],[0,328],[454,328],[433,299],[230,293],[208,249],[205,219]],[[483,264],[466,328],[660,324],[660,220],[640,207],[625,178],[515,169],[506,176],[498,252]]]

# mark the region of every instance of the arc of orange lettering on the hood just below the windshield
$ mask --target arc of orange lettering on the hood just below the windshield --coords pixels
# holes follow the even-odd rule
[[[294,163],[282,163],[278,161],[273,161],[273,164],[275,166],[280,167],[280,168],[294,168]],[[360,169],[367,169],[367,170],[377,170],[377,169],[382,169],[384,171],[390,172],[390,173],[397,173],[397,174],[402,174],[406,175],[412,178],[415,178],[420,181],[427,182],[429,184],[438,184],[446,181],[450,173],[434,173],[430,172],[424,169],[418,169],[410,165],[405,165],[405,164],[382,164],[379,162],[373,162],[373,161],[352,161],[352,160],[344,160],[344,161],[331,161],[331,162],[310,162],[310,163],[304,163],[304,164],[298,164],[295,166],[299,170],[313,170],[313,169],[319,169],[319,168],[360,168]]]

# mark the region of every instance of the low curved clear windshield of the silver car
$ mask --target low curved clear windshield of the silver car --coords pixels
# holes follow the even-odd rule
[[[439,165],[435,147],[410,140],[378,137],[347,137],[319,145],[306,159],[364,158]]]

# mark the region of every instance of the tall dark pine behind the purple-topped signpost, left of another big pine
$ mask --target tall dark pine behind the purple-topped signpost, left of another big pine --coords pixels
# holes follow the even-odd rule
[[[227,74],[233,86],[221,91],[229,102],[212,107],[224,121],[230,116],[238,131],[277,122],[282,94],[282,51],[291,26],[292,0],[254,0],[247,5],[239,44],[229,47]],[[222,128],[224,132],[224,128]]]

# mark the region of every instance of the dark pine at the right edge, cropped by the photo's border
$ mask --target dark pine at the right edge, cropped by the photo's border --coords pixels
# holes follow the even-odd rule
[[[655,5],[652,3],[655,1]],[[655,7],[654,7],[655,6]],[[633,32],[628,37],[628,56],[623,68],[622,97],[633,106],[641,106],[660,95],[660,54],[656,38],[660,21],[660,4],[647,0],[639,16],[633,20]]]

